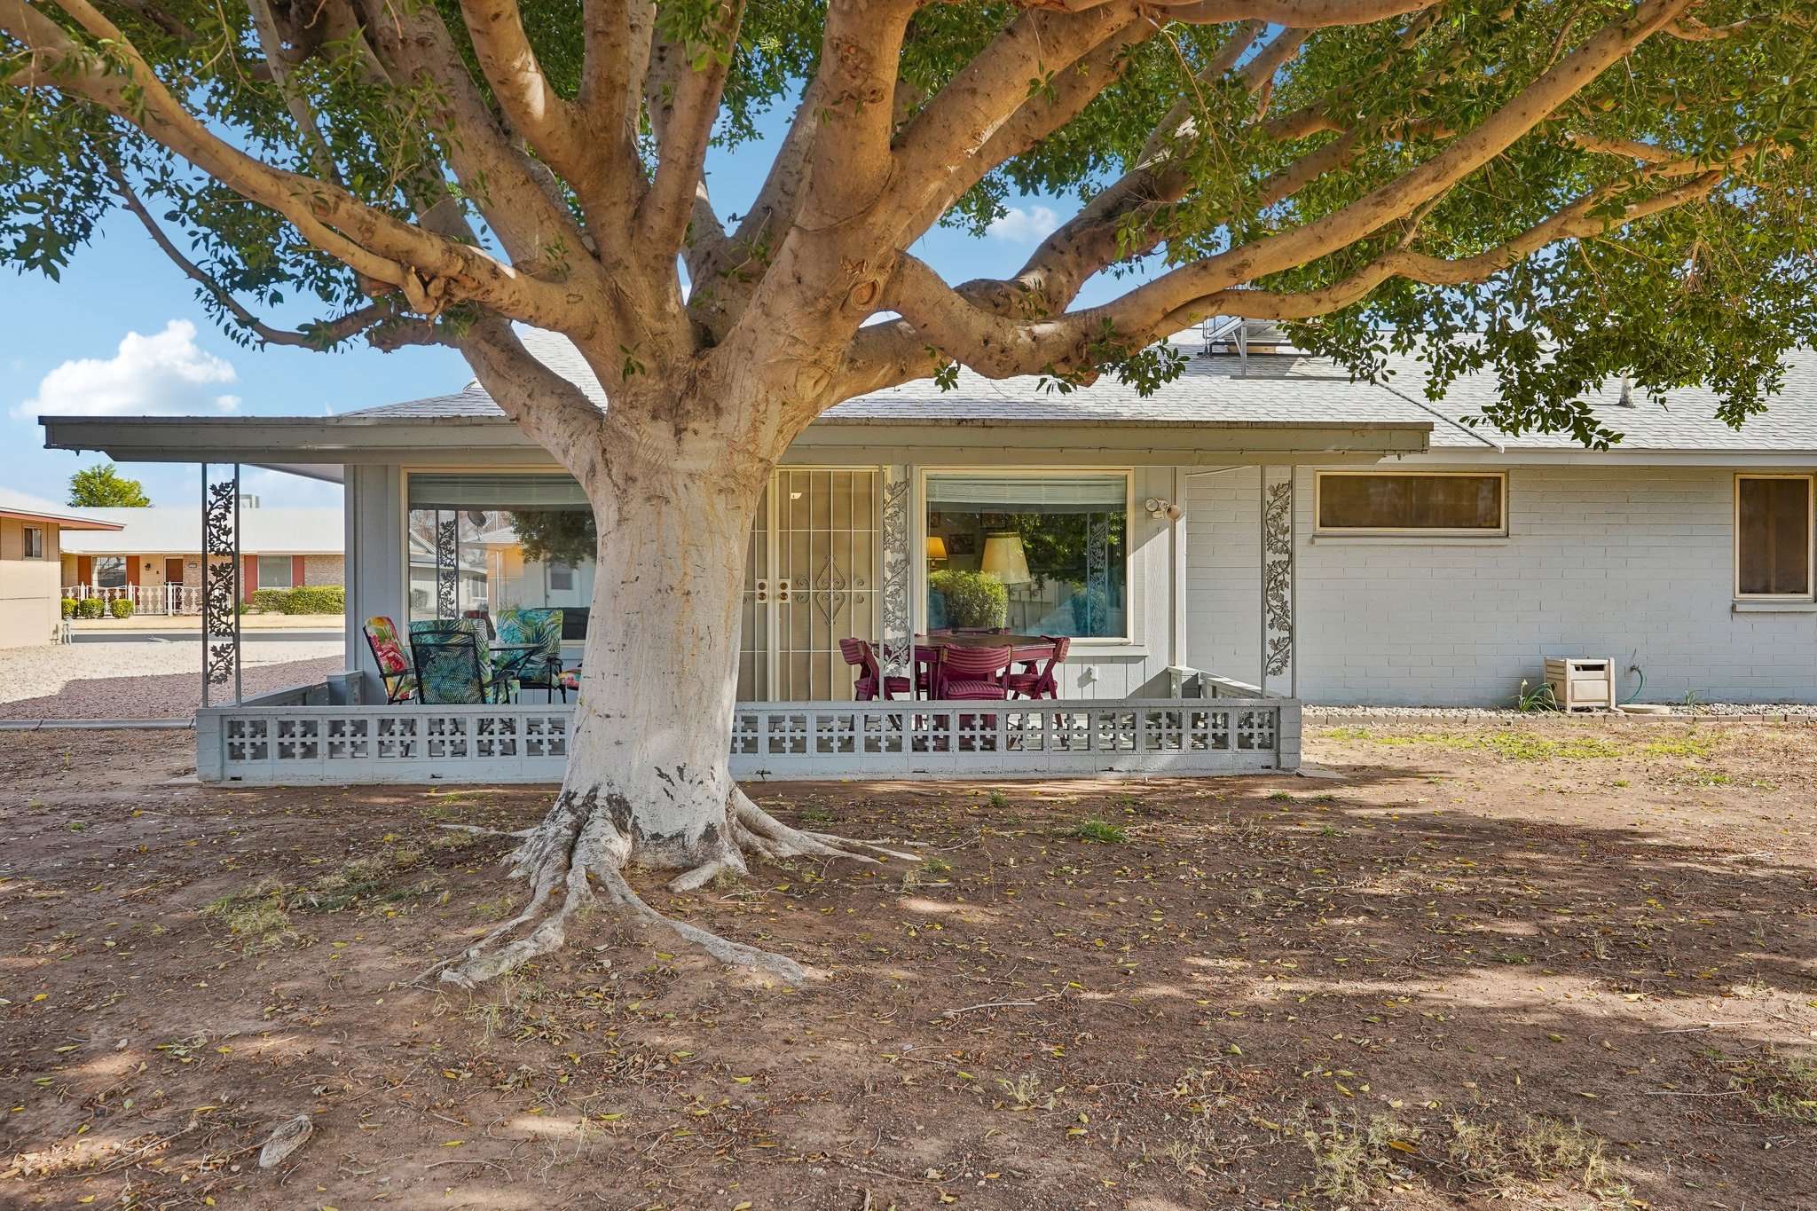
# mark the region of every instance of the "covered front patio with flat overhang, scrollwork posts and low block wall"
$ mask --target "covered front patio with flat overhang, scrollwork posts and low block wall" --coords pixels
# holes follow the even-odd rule
[[[576,381],[585,374],[561,365],[560,350],[545,361]],[[1406,419],[1332,425],[1199,416],[1132,392],[1110,403],[1085,392],[1081,405],[963,387],[958,399],[923,398],[914,392],[927,385],[916,385],[839,405],[774,472],[747,548],[732,772],[1050,777],[1297,766],[1294,470],[1423,452],[1430,421],[1417,409]],[[403,632],[427,619],[558,610],[561,657],[580,663],[594,601],[591,510],[476,385],[327,418],[44,423],[58,448],[202,465],[204,781],[561,777],[572,703],[523,694],[385,704],[363,632],[372,617]],[[238,688],[243,465],[345,492],[345,670],[263,697]],[[1250,612],[1259,605],[1263,659],[1201,668],[1192,654],[1212,645],[1188,626],[1192,519],[1181,501],[1196,476],[1236,467],[1259,468],[1259,565],[1245,579],[1259,583]],[[967,614],[981,581],[1001,586],[987,617]],[[914,684],[918,645],[952,630],[1065,637],[1068,652],[1039,699],[854,701],[861,670],[847,665],[841,641],[870,645],[881,683]]]

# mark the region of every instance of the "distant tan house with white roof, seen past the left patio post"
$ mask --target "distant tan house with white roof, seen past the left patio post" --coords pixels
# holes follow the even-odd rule
[[[200,508],[82,508],[111,532],[64,543],[64,594],[125,597],[138,614],[198,614],[202,608]],[[345,585],[340,508],[260,508],[240,501],[240,596],[260,588]]]

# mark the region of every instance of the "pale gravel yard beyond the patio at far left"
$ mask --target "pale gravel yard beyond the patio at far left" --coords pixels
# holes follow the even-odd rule
[[[180,719],[202,704],[202,645],[71,643],[0,650],[0,719]],[[247,643],[247,695],[340,672],[338,641]]]

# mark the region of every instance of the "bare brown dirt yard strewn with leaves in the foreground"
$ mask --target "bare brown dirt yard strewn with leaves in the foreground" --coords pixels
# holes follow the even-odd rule
[[[756,786],[908,868],[598,910],[465,993],[547,788],[0,737],[0,1206],[1817,1207],[1817,728],[1314,728],[1335,777]],[[274,1126],[311,1138],[256,1164]]]

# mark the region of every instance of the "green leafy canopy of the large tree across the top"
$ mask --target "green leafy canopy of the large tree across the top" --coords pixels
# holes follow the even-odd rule
[[[20,9],[16,0],[4,2]],[[500,182],[463,158],[482,142],[474,123],[496,123],[520,151],[529,147],[525,162],[580,232],[578,240],[547,241],[536,258],[511,258],[529,276],[561,280],[563,265],[600,256],[611,236],[576,183],[549,171],[545,162],[556,158],[511,131],[498,76],[485,71],[456,0],[402,0],[383,9],[400,29],[427,15],[445,40],[454,76],[412,67],[400,58],[403,51],[387,49],[374,22],[392,16],[378,18],[382,7],[372,4],[273,0],[283,45],[278,62],[260,38],[258,9],[240,0],[104,0],[93,11],[118,27],[120,40],[96,34],[82,18],[85,4],[25,7],[53,20],[87,56],[71,62],[100,64],[116,80],[129,78],[131,47],[234,149],[283,171],[333,178],[354,200],[403,223],[460,214],[469,234],[456,238],[503,258],[492,194]],[[540,73],[563,102],[585,100],[585,27],[594,7],[638,11],[581,0],[520,9]],[[1241,16],[1241,5],[1230,7]],[[843,11],[839,4],[832,9]],[[1005,125],[1043,107],[1065,111],[1065,120],[999,163],[983,165],[927,222],[981,232],[1012,198],[1072,198],[1087,214],[1088,207],[1103,214],[1096,231],[1074,218],[1061,236],[1083,245],[1105,225],[1114,236],[1114,251],[1088,265],[1087,280],[1130,289],[1167,280],[1206,258],[1355,212],[1377,191],[1492,123],[1523,89],[1599,31],[1635,20],[1639,9],[1624,0],[1441,0],[1403,16],[1312,29],[1259,78],[1245,69],[1270,53],[1277,25],[1257,27],[1259,36],[1250,38],[1236,20],[1194,24],[1170,13],[1165,5],[1143,9],[1139,22],[1092,51],[1097,58],[1056,53],[1050,62],[1038,53],[1018,85],[1021,109]],[[138,85],[125,85],[114,113],[60,87],[58,71],[74,69],[67,62],[55,71],[35,67],[20,20],[0,18],[0,256],[20,271],[56,278],[84,254],[109,211],[140,198],[144,218],[169,232],[194,271],[198,298],[242,341],[274,340],[253,312],[298,300],[320,307],[322,321],[291,336],[320,347],[354,336],[460,341],[463,325],[487,314],[487,300],[474,294],[454,298],[425,325],[422,305],[407,292],[374,287],[296,222],[249,202],[231,182],[174,154],[162,136],[134,127],[129,118],[144,103]],[[1030,9],[1016,4],[918,7],[899,53],[890,53],[894,98],[816,94],[819,116],[830,122],[867,103],[890,103],[899,151],[918,114],[976,87],[981,56],[1030,20]],[[710,140],[721,149],[758,140],[769,125],[765,114],[792,109],[809,82],[825,74],[829,27],[829,5],[812,0],[743,9],[718,0],[656,4],[643,36],[654,29],[658,47],[676,47],[685,73],[643,93],[645,109],[636,118],[643,172],[654,176],[665,156],[656,113],[674,100],[676,80],[723,71]],[[1232,69],[1206,71],[1234,38],[1250,42]],[[839,42],[839,54],[850,54],[850,45]],[[431,58],[436,53],[436,45],[423,49]],[[1492,372],[1501,401],[1488,419],[1508,432],[1568,430],[1590,445],[1619,439],[1584,403],[1586,392],[1615,376],[1653,394],[1710,383],[1721,394],[1721,416],[1739,425],[1766,407],[1786,352],[1817,340],[1813,54],[1810,0],[1686,5],[1663,33],[1417,207],[1150,320],[1134,321],[1116,305],[1101,316],[1090,312],[1061,356],[1016,372],[1043,372],[1052,389],[1068,390],[1108,370],[1150,392],[1179,372],[1177,359],[1154,343],[1168,323],[1177,327],[1206,307],[1241,314],[1259,305],[1256,300],[1286,300],[1263,310],[1281,312],[1276,318],[1297,343],[1359,376],[1379,374],[1390,350],[1423,354],[1434,396],[1459,374]],[[478,111],[460,103],[469,87]],[[1081,87],[1088,98],[1068,102]],[[810,109],[801,107],[803,114]],[[311,116],[313,133],[298,113]],[[1321,169],[1306,174],[1308,163]],[[1639,218],[1623,209],[1704,176],[1710,180],[1692,203]],[[1343,290],[1397,256],[1432,263],[1495,258],[1523,232],[1586,198],[1586,222],[1601,220],[1603,229],[1541,240],[1470,280],[1388,274],[1355,298]],[[692,240],[701,236],[700,222],[696,214]],[[918,234],[905,229],[892,254],[905,252]],[[721,334],[712,309],[725,307],[736,318],[732,303],[749,298],[779,240],[776,225],[760,229],[692,283],[690,309],[709,334],[707,347]],[[1052,287],[1061,276],[1041,267],[967,300],[999,321],[1036,321],[1072,309],[1083,281]],[[1330,292],[1343,296],[1341,305],[1305,301]],[[879,303],[879,310],[887,307]],[[928,329],[907,345],[916,354],[907,359],[914,374],[947,385],[954,381],[952,361],[1010,372],[1007,361],[987,365],[978,349],[905,314]],[[645,349],[638,341],[620,347]],[[660,359],[645,367],[641,352],[636,359],[625,354],[627,378],[632,361],[638,372],[672,369]]]

